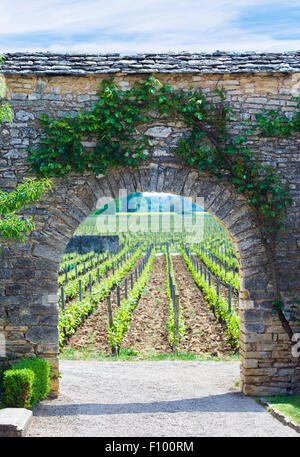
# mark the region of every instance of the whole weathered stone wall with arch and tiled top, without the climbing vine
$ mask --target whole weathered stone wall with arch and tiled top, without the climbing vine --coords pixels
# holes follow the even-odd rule
[[[103,57],[103,58],[102,58]],[[213,90],[224,88],[237,120],[253,118],[263,108],[281,107],[292,113],[299,93],[299,56],[291,54],[170,55],[125,58],[120,56],[8,55],[4,67],[8,99],[14,111],[11,125],[0,127],[0,186],[11,190],[30,176],[27,148],[39,143],[43,112],[57,118],[88,109],[97,99],[100,82],[114,73],[124,90],[144,73],[156,71],[174,87],[199,87],[213,99]],[[146,60],[146,62],[145,62]],[[193,63],[197,61],[197,63]],[[113,62],[109,64],[108,62]],[[154,67],[153,67],[154,65]],[[248,65],[248,66],[247,66]],[[120,71],[122,70],[122,71]],[[6,243],[0,258],[0,331],[6,336],[10,359],[36,353],[58,367],[57,271],[62,253],[79,223],[97,209],[103,195],[118,197],[119,189],[173,192],[204,197],[205,209],[227,228],[235,244],[241,271],[240,317],[242,389],[246,394],[272,394],[300,390],[298,359],[272,309],[272,278],[255,217],[247,202],[226,180],[183,166],[170,149],[185,126],[153,113],[146,134],[155,145],[151,160],[135,171],[115,170],[107,176],[70,175],[55,179],[53,190],[26,214],[33,215],[36,230],[25,244]],[[272,163],[290,184],[293,204],[280,236],[277,258],[286,316],[299,291],[299,137],[252,137],[249,147],[262,163]],[[92,146],[85,143],[86,148]],[[291,321],[295,331],[300,331]],[[53,379],[53,393],[57,379]]]

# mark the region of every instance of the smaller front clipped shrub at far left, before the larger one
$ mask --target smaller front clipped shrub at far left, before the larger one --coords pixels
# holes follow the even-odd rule
[[[13,408],[30,408],[35,375],[28,368],[4,373],[4,401]]]

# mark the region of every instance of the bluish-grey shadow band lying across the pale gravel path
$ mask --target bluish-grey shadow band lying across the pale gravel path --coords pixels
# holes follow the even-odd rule
[[[252,398],[239,392],[210,395],[185,400],[159,401],[151,403],[83,403],[72,405],[49,405],[40,403],[33,411],[34,416],[75,416],[144,413],[182,412],[265,412]]]

